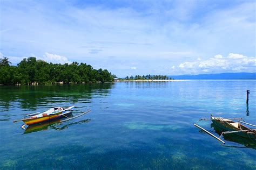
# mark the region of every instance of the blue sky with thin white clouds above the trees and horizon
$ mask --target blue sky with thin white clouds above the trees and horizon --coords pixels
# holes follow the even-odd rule
[[[117,76],[255,72],[255,1],[1,2],[0,56]]]

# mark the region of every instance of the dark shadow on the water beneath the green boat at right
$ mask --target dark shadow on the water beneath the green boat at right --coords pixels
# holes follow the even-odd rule
[[[213,128],[214,131],[219,135],[221,135],[222,132],[226,131],[225,129],[220,128],[219,126],[217,126],[214,123],[211,123],[211,128]],[[227,141],[232,141],[234,143],[244,145],[244,147],[250,147],[250,148],[253,148],[254,150],[256,150],[256,140],[254,140],[254,139],[244,138],[244,137],[238,136],[238,135],[233,134],[233,133],[225,134],[223,137]],[[223,146],[226,146],[226,147],[241,147],[241,146],[233,146],[233,145],[232,146],[231,145],[223,145]]]

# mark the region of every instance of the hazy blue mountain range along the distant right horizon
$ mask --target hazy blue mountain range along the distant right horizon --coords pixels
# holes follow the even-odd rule
[[[198,74],[198,75],[177,75],[173,79],[186,80],[256,80],[256,73],[220,73],[220,74]]]

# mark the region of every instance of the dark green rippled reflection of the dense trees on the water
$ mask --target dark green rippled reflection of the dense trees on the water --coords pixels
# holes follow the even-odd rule
[[[1,86],[0,110],[9,111],[17,105],[36,110],[52,103],[90,103],[91,98],[109,95],[114,83],[62,84],[51,86]]]

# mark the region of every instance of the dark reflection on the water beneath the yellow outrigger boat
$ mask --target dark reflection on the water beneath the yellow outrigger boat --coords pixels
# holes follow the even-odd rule
[[[66,115],[66,116],[68,116],[69,118],[74,117],[73,114],[71,114],[71,113]],[[38,132],[38,131],[42,131],[42,130],[49,130],[49,129],[63,130],[63,129],[66,129],[70,125],[73,125],[73,124],[88,123],[88,122],[91,121],[91,119],[84,119],[82,121],[77,121],[77,122],[73,122],[73,123],[69,123],[69,124],[65,124],[65,125],[61,126],[62,119],[64,119],[64,118],[66,118],[66,117],[63,116],[63,118],[55,119],[53,121],[48,121],[48,122],[43,122],[43,123],[39,123],[39,124],[30,125],[25,129],[23,134]]]

